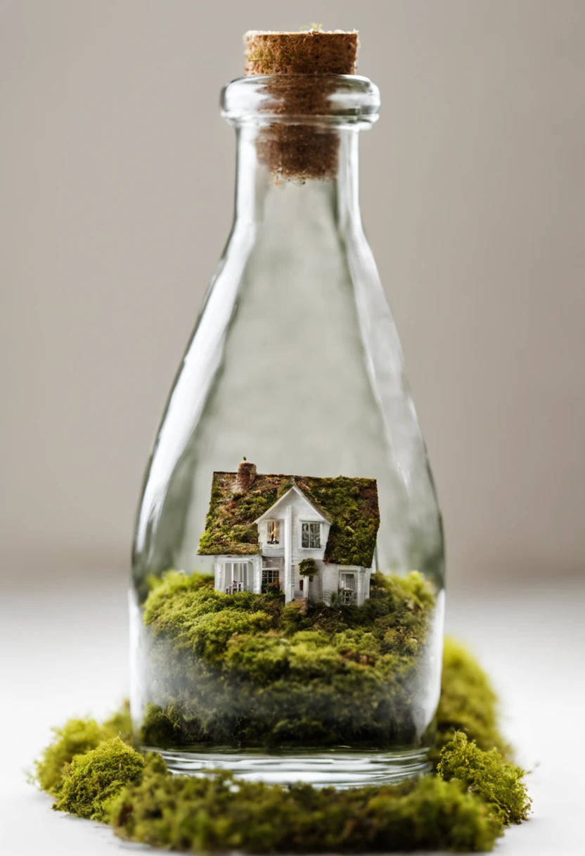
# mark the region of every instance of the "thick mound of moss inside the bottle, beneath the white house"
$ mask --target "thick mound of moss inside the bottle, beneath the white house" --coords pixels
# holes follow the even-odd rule
[[[420,745],[412,676],[434,608],[421,574],[374,574],[362,606],[306,614],[212,586],[169,574],[146,601],[146,744]]]

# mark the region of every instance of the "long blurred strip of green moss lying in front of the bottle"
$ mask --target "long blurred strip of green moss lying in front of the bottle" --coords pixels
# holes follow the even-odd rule
[[[491,850],[501,831],[459,782],[425,776],[382,788],[312,788],[157,774],[112,805],[116,835],[170,850],[366,853]]]

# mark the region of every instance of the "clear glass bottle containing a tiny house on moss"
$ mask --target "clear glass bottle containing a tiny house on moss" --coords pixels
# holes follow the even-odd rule
[[[443,538],[360,217],[358,132],[378,109],[353,75],[222,93],[233,228],[133,546],[133,723],[175,770],[351,785],[428,769]]]

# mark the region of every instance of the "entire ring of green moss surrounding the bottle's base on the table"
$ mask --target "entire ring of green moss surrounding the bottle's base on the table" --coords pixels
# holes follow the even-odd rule
[[[510,752],[487,676],[462,646],[446,640],[445,651],[440,710],[449,716],[439,719],[437,734],[454,733],[446,744],[439,737],[440,763],[431,776],[342,791],[241,782],[223,773],[173,776],[159,756],[144,757],[129,746],[121,751],[121,740],[111,737],[117,724],[131,739],[125,706],[102,725],[71,720],[56,728],[36,765],[37,781],[62,794],[56,810],[109,822],[128,841],[176,851],[491,850],[506,825],[529,816],[530,800],[523,770],[496,748]],[[473,716],[457,704],[465,687]]]

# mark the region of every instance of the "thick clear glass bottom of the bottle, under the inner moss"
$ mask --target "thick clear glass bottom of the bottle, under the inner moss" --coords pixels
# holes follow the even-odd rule
[[[158,752],[173,773],[206,776],[221,770],[245,782],[282,785],[304,782],[316,788],[394,784],[432,769],[427,747],[394,751],[295,749],[273,753],[222,747],[208,750],[198,747],[183,752],[156,746],[142,748]]]

